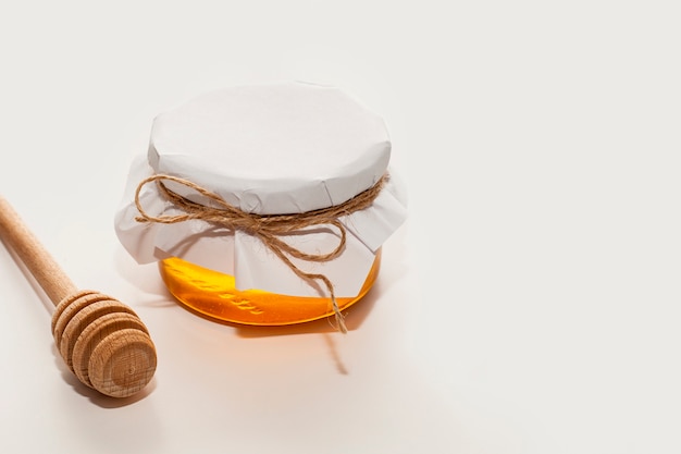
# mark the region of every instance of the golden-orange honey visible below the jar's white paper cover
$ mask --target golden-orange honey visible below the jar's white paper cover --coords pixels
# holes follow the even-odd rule
[[[381,267],[381,249],[359,294],[338,297],[340,310],[360,300],[373,286]],[[332,316],[329,297],[290,296],[262,290],[237,290],[233,275],[172,257],[159,261],[163,282],[182,304],[208,317],[253,326],[282,326]]]

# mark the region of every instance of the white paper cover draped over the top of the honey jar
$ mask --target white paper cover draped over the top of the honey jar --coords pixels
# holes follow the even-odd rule
[[[250,213],[299,213],[349,200],[388,171],[391,142],[384,121],[335,87],[304,84],[245,85],[205,94],[158,115],[146,157],[129,172],[115,230],[126,250],[146,263],[169,257],[232,274],[237,289],[293,296],[327,296],[298,278],[259,240],[214,229],[201,220],[140,223],[137,185],[152,174],[191,181]],[[186,197],[193,191],[173,186]],[[147,184],[146,211],[177,214]],[[358,294],[375,253],[407,216],[405,191],[392,174],[370,208],[340,219],[348,235],[343,255],[327,262],[292,259],[305,272],[323,273],[336,296]],[[338,244],[331,229],[281,240],[309,254]]]

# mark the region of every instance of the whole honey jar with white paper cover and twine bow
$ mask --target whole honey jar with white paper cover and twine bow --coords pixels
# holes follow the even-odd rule
[[[208,317],[278,326],[335,315],[342,324],[407,217],[389,157],[385,122],[339,88],[213,90],[153,120],[116,234]]]

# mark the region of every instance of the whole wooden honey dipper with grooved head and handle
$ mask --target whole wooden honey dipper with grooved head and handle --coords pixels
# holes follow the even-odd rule
[[[99,292],[79,291],[2,197],[0,238],[57,307],[54,342],[78,380],[112,397],[143,390],[153,377],[157,356],[147,328],[133,309]]]

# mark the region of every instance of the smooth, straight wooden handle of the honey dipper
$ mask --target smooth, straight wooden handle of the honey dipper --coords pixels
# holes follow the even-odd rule
[[[2,196],[0,196],[0,240],[14,249],[55,306],[77,291],[71,279]]]

